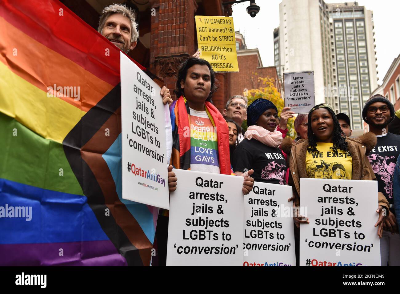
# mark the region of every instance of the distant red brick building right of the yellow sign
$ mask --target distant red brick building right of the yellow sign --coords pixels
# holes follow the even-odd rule
[[[230,74],[230,96],[242,95],[246,89],[258,88],[258,77],[270,77],[282,94],[282,86],[275,66],[262,66],[258,49],[247,49],[243,35],[236,32],[236,50],[238,52],[239,72]],[[283,96],[282,96],[283,97]]]

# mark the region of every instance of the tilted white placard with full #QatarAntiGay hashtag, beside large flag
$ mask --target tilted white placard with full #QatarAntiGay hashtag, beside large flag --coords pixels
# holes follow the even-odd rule
[[[120,67],[122,198],[169,209],[168,105],[161,88],[122,52]]]

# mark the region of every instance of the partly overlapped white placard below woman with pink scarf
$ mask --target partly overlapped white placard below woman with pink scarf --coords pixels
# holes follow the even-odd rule
[[[255,182],[244,196],[243,266],[296,266],[292,187]]]

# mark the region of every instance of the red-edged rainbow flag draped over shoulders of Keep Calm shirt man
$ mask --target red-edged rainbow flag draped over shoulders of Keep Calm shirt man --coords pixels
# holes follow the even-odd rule
[[[229,132],[224,117],[210,102],[206,102],[206,112],[216,128],[218,142],[218,161],[221,174],[232,174],[229,157]],[[190,136],[184,136],[190,128],[189,105],[184,96],[170,106],[172,123],[172,156],[174,168],[190,170]],[[189,132],[190,134],[190,132]]]

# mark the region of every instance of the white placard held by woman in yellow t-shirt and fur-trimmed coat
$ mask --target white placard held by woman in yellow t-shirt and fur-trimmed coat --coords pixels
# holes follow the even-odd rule
[[[376,181],[300,178],[301,266],[380,266]]]

